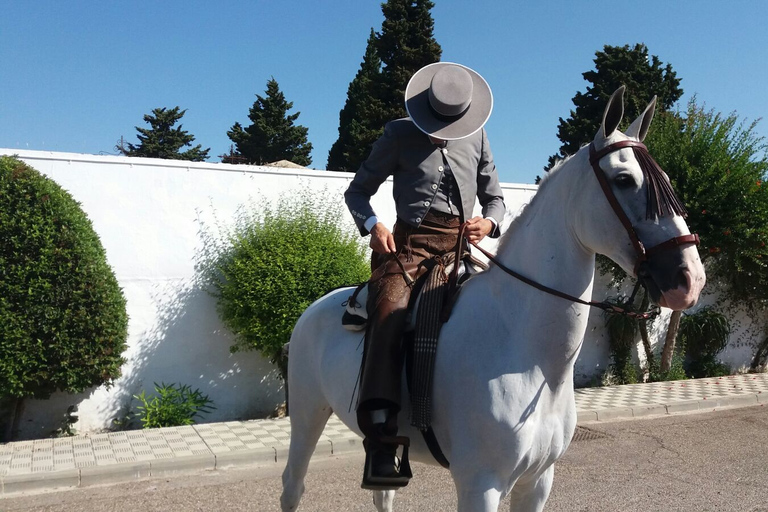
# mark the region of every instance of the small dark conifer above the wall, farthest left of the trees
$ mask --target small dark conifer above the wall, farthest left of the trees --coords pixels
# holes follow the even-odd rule
[[[125,156],[143,156],[148,158],[167,158],[171,160],[191,160],[193,162],[203,162],[208,158],[208,149],[202,149],[197,146],[184,151],[180,151],[185,146],[191,146],[195,140],[193,135],[173,126],[184,116],[185,110],[179,107],[172,109],[156,108],[151,114],[144,116],[144,121],[149,123],[150,129],[136,127],[139,144],[134,145],[130,142],[126,145],[116,146],[120,153]]]

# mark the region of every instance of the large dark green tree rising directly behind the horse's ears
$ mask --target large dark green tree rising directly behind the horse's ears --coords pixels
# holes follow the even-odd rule
[[[583,76],[592,85],[586,93],[577,92],[573,97],[576,110],[571,110],[571,116],[567,120],[560,118],[557,138],[563,144],[558,154],[549,157],[545,171],[558,159],[575,153],[592,140],[600,127],[608,98],[621,85],[627,87],[624,93],[626,123],[637,118],[654,95],[658,96],[659,111],[669,110],[683,95],[680,79],[672,66],[664,65],[656,55],[649,58],[644,44],[606,45],[603,51],[595,53],[595,69]]]

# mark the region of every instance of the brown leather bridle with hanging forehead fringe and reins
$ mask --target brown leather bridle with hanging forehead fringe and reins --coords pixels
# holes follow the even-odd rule
[[[608,200],[608,203],[611,205],[611,208],[613,209],[614,213],[616,213],[616,216],[619,218],[619,221],[624,226],[624,229],[627,231],[627,234],[629,235],[629,239],[632,242],[632,246],[635,249],[635,253],[637,254],[637,261],[635,262],[635,268],[634,268],[635,275],[637,275],[637,271],[640,265],[647,262],[648,259],[654,254],[658,254],[659,252],[662,252],[665,250],[669,250],[675,247],[685,246],[689,244],[699,245],[699,235],[692,233],[689,235],[676,236],[676,237],[670,238],[666,242],[662,242],[658,245],[655,245],[650,249],[645,248],[643,243],[640,241],[640,238],[637,236],[637,232],[635,231],[635,228],[632,225],[632,222],[629,220],[629,217],[627,217],[627,214],[624,212],[624,209],[621,207],[621,205],[619,204],[619,201],[616,199],[616,195],[613,193],[611,186],[608,184],[608,179],[605,177],[605,173],[600,168],[600,159],[602,157],[614,151],[618,151],[620,149],[629,148],[629,147],[631,147],[635,152],[636,158],[638,159],[638,162],[640,163],[640,166],[643,170],[643,174],[646,177],[647,186],[649,188],[648,200],[649,202],[653,202],[652,205],[649,205],[646,215],[647,216],[651,216],[651,215],[663,216],[665,214],[665,210],[670,215],[678,214],[678,215],[681,215],[682,217],[685,217],[687,213],[685,212],[685,208],[683,208],[680,200],[677,198],[677,196],[674,195],[674,191],[672,190],[672,186],[669,184],[669,181],[666,175],[658,167],[656,162],[653,161],[651,156],[648,154],[648,149],[645,147],[643,143],[632,141],[632,140],[625,140],[621,142],[616,142],[614,144],[610,144],[604,147],[603,149],[601,149],[600,151],[597,151],[595,149],[594,143],[589,145],[589,162],[592,165],[592,170],[595,171],[595,176],[597,177],[598,183],[600,183],[600,188],[603,190],[603,194],[605,194],[605,197]],[[461,225],[460,232],[459,232],[459,240],[464,238],[465,227],[466,227],[466,223]],[[559,290],[555,290],[554,288],[544,286],[543,284],[537,283],[533,279],[525,277],[524,275],[518,272],[515,272],[509,267],[506,267],[493,254],[486,251],[485,249],[477,245],[475,242],[470,241],[469,243],[472,244],[472,246],[474,246],[477,250],[479,250],[486,258],[492,261],[497,267],[499,267],[501,270],[503,270],[510,276],[514,277],[515,279],[518,279],[519,281],[522,281],[523,283],[529,286],[536,288],[537,290],[541,290],[550,295],[554,295],[556,297],[560,297],[560,298],[569,300],[571,302],[576,302],[578,304],[583,304],[585,306],[599,308],[599,309],[602,309],[603,311],[610,311],[611,313],[618,313],[621,315],[629,316],[637,320],[649,320],[659,314],[658,308],[656,308],[654,311],[637,312],[637,311],[632,311],[630,309],[623,308],[621,306],[617,306],[616,304],[611,304],[610,302],[586,301],[579,297],[569,295]],[[454,283],[458,278],[458,262],[460,259],[460,254],[458,253],[460,253],[461,251],[461,246],[462,244],[459,243],[458,249],[457,249],[457,255],[455,259],[456,263],[454,265],[454,271],[450,279]],[[633,293],[633,297],[634,297],[634,293]]]

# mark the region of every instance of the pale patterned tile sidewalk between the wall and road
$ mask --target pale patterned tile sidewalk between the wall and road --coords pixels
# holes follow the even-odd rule
[[[579,423],[765,405],[768,374],[576,390]],[[284,464],[290,422],[233,421],[0,444],[0,496]],[[334,415],[314,457],[362,450]]]

